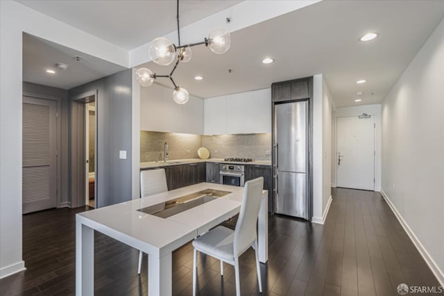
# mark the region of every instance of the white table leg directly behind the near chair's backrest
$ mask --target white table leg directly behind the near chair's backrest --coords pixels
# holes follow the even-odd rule
[[[259,261],[268,261],[268,192],[262,194],[259,217],[257,219],[257,242],[259,245]]]

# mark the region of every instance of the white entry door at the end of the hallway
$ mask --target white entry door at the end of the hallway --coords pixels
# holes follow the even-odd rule
[[[337,117],[336,186],[375,190],[375,116]]]

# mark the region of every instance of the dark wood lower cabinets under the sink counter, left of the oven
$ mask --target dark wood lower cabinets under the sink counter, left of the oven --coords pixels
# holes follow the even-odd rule
[[[171,165],[163,168],[167,176],[168,190],[202,183],[206,179],[205,163]]]

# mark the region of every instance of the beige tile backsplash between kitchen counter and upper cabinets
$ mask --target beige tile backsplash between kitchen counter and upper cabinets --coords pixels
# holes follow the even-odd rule
[[[140,162],[163,161],[164,143],[169,145],[169,159],[198,158],[197,149],[207,147],[211,158],[253,158],[271,161],[271,133],[243,135],[191,135],[140,131]]]

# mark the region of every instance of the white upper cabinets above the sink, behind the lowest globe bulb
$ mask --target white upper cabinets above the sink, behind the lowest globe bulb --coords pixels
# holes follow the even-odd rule
[[[189,96],[187,104],[173,101],[173,90],[153,84],[141,88],[140,129],[167,133],[203,133],[203,100]]]

